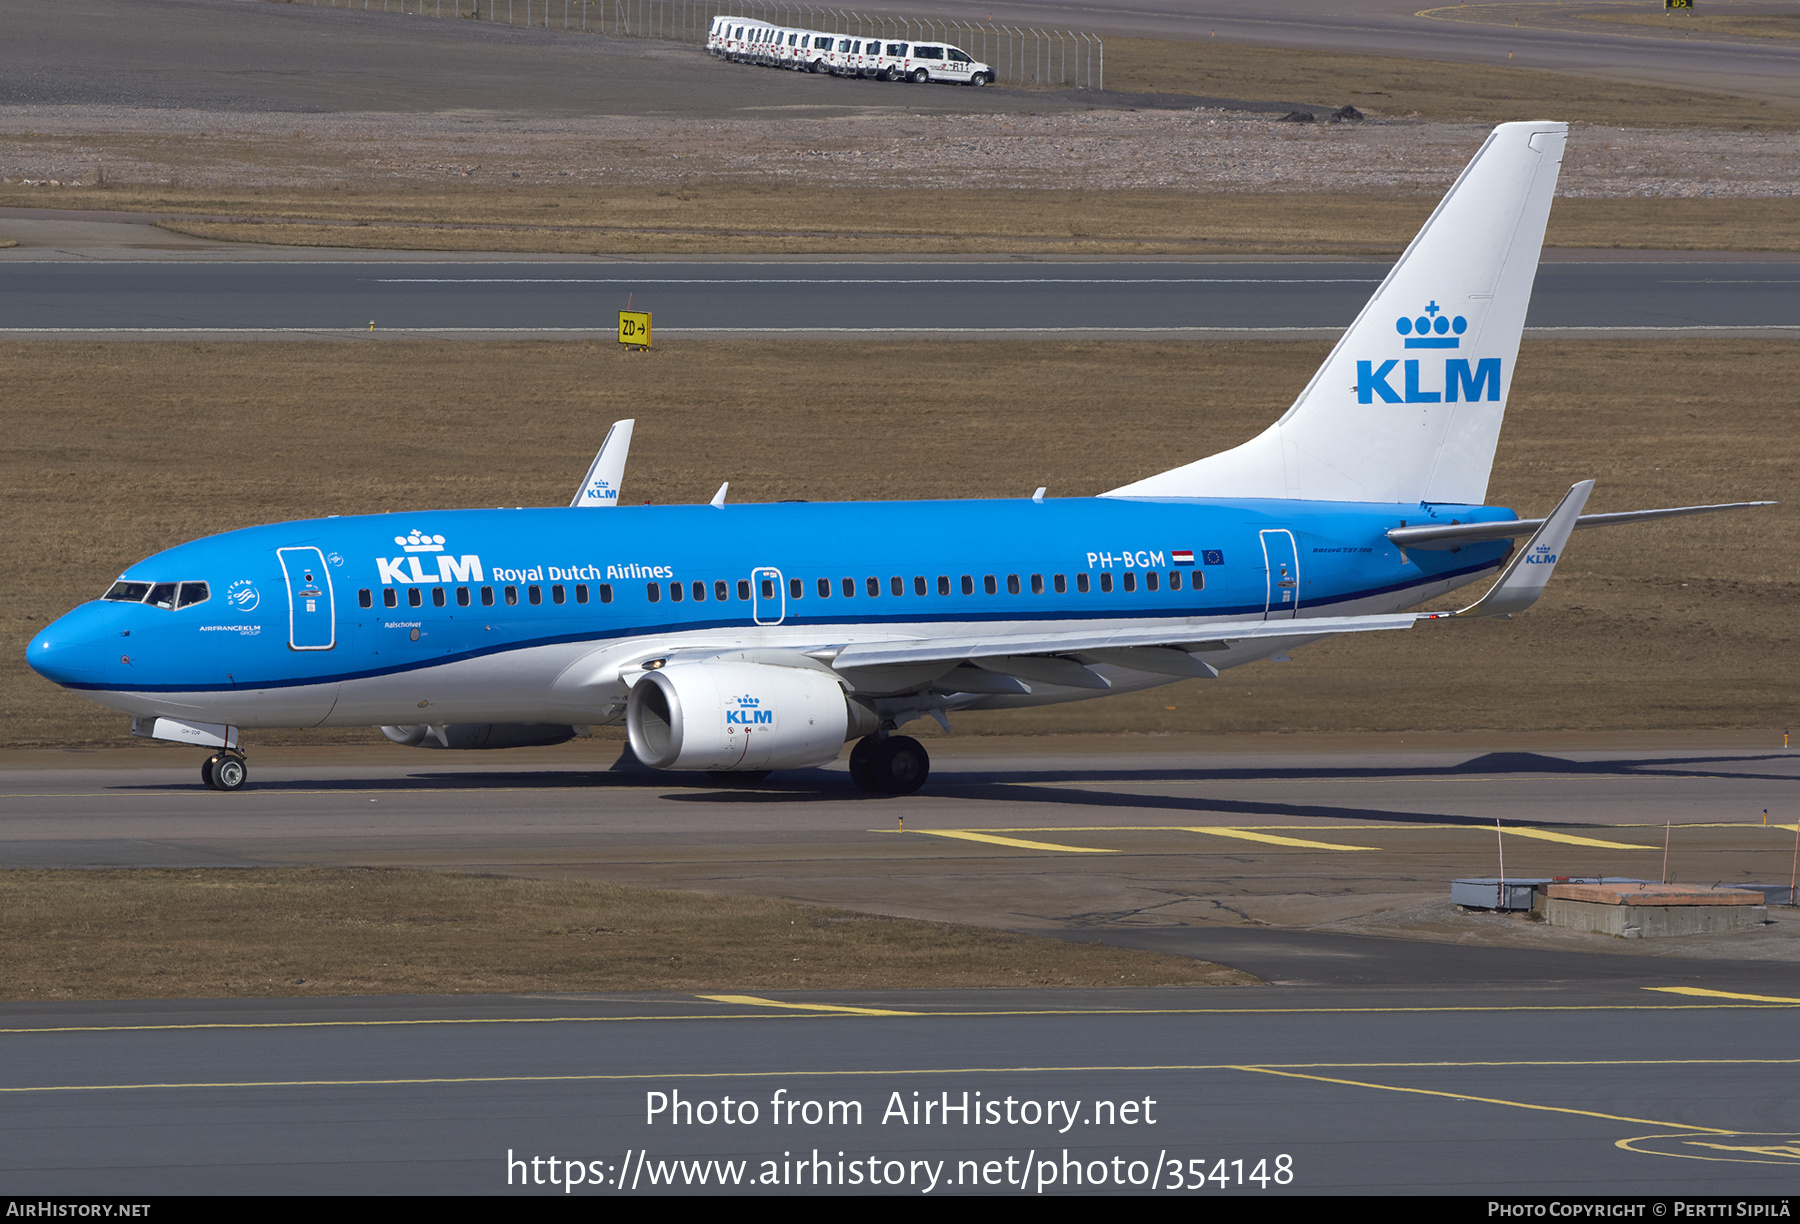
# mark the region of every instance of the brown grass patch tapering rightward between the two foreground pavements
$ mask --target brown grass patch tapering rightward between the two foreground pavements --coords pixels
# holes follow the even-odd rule
[[[756,896],[427,871],[7,871],[0,999],[1233,986],[1206,961]]]

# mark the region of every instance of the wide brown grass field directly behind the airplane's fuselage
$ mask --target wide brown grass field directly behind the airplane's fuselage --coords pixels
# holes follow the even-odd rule
[[[560,506],[637,418],[626,500],[1093,495],[1273,421],[1323,344],[7,344],[4,743],[119,743],[122,715],[23,666],[128,563],[331,513]],[[970,394],[970,387],[979,394]],[[1800,344],[1526,342],[1490,500],[1543,513],[1784,506],[1575,536],[1512,621],[1300,650],[1213,682],[958,734],[1800,727]],[[630,513],[630,511],[619,511]],[[1373,639],[1373,641],[1372,641]],[[927,727],[927,731],[934,731]],[[367,740],[378,733],[337,733]],[[256,733],[252,742],[319,742]]]

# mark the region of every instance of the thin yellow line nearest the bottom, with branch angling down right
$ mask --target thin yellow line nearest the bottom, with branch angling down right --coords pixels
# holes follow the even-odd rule
[[[1445,1093],[1420,1087],[1395,1087],[1390,1084],[1368,1084],[1363,1080],[1345,1080],[1325,1075],[1307,1075],[1303,1069],[1345,1069],[1345,1071],[1404,1071],[1404,1069],[1474,1069],[1474,1067],[1660,1067],[1660,1066],[1793,1066],[1795,1058],[1649,1058],[1649,1060],[1568,1060],[1568,1062],[1352,1062],[1352,1064],[1240,1064],[1240,1062],[1197,1062],[1197,1064],[1150,1064],[1150,1066],[1031,1066],[1031,1067],[857,1067],[826,1071],[614,1071],[592,1075],[423,1075],[394,1076],[373,1080],[149,1080],[142,1084],[22,1084],[0,1087],[0,1096],[20,1093],[124,1093],[142,1089],[203,1089],[203,1087],[392,1087],[423,1084],[630,1084],[637,1080],[776,1080],[776,1078],[868,1078],[896,1075],[1120,1075],[1120,1073],[1168,1073],[1168,1071],[1255,1071],[1260,1075],[1278,1075],[1294,1080],[1318,1080],[1321,1084],[1343,1084],[1348,1087],[1373,1087],[1388,1093],[1411,1093],[1418,1096],[1447,1096],[1451,1100],[1483,1102],[1490,1105],[1514,1105],[1517,1109],[1537,1109],[1546,1112],[1582,1114],[1588,1118],[1606,1118],[1609,1121],[1631,1121],[1636,1125],[1670,1127],[1685,1132],[1739,1134],[1721,1127],[1696,1127],[1692,1123],[1658,1121],[1652,1118],[1625,1118],[1620,1114],[1600,1114],[1586,1109],[1562,1105],[1532,1105],[1528,1102],[1508,1102],[1490,1096],[1469,1096],[1467,1093]]]

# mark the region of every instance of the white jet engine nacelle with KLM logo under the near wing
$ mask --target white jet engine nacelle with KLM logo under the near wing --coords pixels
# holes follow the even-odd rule
[[[819,668],[677,662],[632,688],[625,729],[653,769],[803,769],[837,758],[877,720]]]

